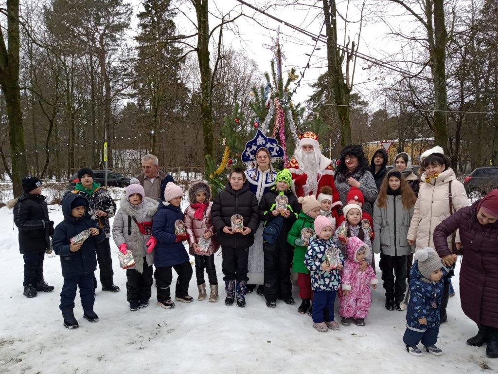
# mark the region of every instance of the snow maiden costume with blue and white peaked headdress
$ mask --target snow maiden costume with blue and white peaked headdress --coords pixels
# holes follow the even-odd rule
[[[262,171],[256,164],[256,154],[260,149],[264,149],[270,155],[269,168]],[[242,162],[254,166],[249,168],[246,178],[249,182],[249,189],[256,195],[257,202],[261,201],[263,194],[268,192],[275,185],[277,173],[271,165],[275,159],[284,156],[283,149],[279,146],[275,138],[267,138],[257,129],[256,135],[246,143],[246,149],[242,154]],[[264,254],[263,254],[263,223],[261,223],[254,233],[254,244],[249,248],[249,283],[263,284]]]

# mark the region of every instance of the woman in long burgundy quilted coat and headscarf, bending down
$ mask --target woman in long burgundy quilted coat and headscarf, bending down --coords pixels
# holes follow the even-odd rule
[[[498,189],[459,209],[434,230],[434,246],[447,266],[455,262],[447,238],[460,229],[463,244],[460,299],[464,313],[479,333],[467,344],[488,343],[486,355],[498,358]]]

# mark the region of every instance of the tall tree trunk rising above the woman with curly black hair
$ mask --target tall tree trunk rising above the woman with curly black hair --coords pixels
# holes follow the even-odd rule
[[[349,107],[350,89],[344,81],[341,52],[337,47],[337,23],[335,19],[337,14],[336,1],[330,0],[330,4],[329,0],[322,1],[323,13],[325,16],[325,30],[327,32],[327,84],[333,101],[330,104],[336,105],[335,110],[339,118],[342,134],[341,145],[344,147],[352,143]],[[330,127],[332,128],[332,126]]]

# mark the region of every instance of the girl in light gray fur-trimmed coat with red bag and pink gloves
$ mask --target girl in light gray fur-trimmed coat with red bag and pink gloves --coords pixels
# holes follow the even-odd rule
[[[114,217],[113,239],[120,251],[131,251],[135,265],[126,269],[126,298],[129,309],[135,311],[149,305],[152,287],[152,264],[156,239],[151,236],[152,218],[158,202],[145,197],[137,182],[126,188],[120,209]]]

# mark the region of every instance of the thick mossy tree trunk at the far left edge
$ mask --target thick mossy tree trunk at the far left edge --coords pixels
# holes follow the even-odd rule
[[[17,196],[22,193],[22,178],[28,174],[19,93],[19,0],[7,1],[7,42],[8,50],[0,29],[0,86],[8,118],[12,189]]]

